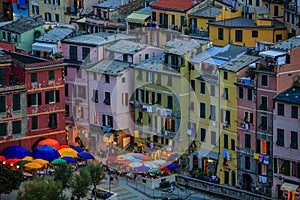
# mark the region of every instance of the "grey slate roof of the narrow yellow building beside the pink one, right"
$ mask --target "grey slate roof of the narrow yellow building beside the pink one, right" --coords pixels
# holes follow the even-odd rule
[[[254,63],[255,61],[259,60],[258,56],[251,56],[251,55],[241,55],[235,59],[232,59],[225,64],[221,65],[219,69],[231,71],[231,72],[238,72],[244,67]]]

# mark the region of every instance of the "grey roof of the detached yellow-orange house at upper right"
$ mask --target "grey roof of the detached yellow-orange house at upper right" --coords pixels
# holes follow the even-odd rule
[[[227,20],[220,20],[216,22],[208,22],[209,25],[223,26],[223,27],[237,27],[237,28],[257,28],[257,29],[284,29],[284,24],[274,19],[273,26],[257,26],[254,20],[243,17],[237,17]]]

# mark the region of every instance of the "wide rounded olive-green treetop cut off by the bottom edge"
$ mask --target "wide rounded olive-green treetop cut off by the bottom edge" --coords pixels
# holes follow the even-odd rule
[[[67,200],[61,183],[53,179],[37,178],[19,190],[17,200]]]

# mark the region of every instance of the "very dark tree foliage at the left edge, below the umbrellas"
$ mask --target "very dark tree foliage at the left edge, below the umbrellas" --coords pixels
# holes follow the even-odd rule
[[[18,189],[22,181],[19,171],[13,171],[0,165],[0,195],[9,194],[12,190]]]

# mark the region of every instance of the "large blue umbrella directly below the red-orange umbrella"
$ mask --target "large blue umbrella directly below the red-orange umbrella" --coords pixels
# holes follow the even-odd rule
[[[59,158],[60,154],[54,147],[49,145],[42,145],[33,150],[32,157],[35,159],[40,158],[51,162],[52,160]]]

